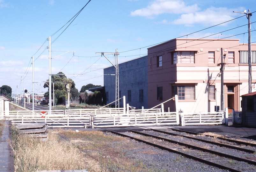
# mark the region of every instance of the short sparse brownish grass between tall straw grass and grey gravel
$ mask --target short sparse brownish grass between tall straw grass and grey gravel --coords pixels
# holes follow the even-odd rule
[[[84,150],[85,156],[97,160],[102,172],[108,171],[155,171],[148,169],[140,159],[131,159],[128,152],[135,150],[137,147],[132,144],[131,140],[123,137],[105,135],[99,131],[58,131],[60,135],[70,140]],[[143,152],[152,154],[153,152]]]

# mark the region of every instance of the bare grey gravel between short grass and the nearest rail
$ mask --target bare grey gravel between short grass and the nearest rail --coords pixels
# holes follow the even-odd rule
[[[147,145],[136,140],[133,140],[132,144],[135,145],[135,147],[130,149],[129,152],[126,152],[127,156],[131,159],[143,161],[143,164],[149,169],[154,169],[154,172],[227,171],[198,161],[194,161],[179,154]]]

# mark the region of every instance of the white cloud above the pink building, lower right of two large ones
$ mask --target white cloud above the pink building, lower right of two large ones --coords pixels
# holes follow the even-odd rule
[[[205,11],[182,14],[179,19],[173,21],[173,24],[185,26],[193,26],[194,24],[217,25],[233,19],[232,16],[234,15],[231,9],[210,7]]]

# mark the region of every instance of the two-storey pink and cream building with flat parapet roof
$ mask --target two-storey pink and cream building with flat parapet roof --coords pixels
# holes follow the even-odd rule
[[[248,44],[239,39],[172,39],[148,48],[148,107],[175,94],[186,112],[213,112],[221,105],[221,48],[224,66],[224,106],[241,110],[248,93]],[[252,85],[256,83],[256,44],[252,44]],[[254,88],[254,87],[253,87]],[[252,90],[256,91],[256,90]],[[175,103],[165,108],[176,111]],[[165,109],[167,110],[167,109]]]

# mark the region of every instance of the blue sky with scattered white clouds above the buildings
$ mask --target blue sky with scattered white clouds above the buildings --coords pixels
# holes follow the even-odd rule
[[[87,2],[0,0],[0,86],[9,85],[13,93],[32,92],[34,56],[35,93],[47,91],[43,85],[49,79],[49,36],[51,73],[63,72],[80,91],[89,83],[104,85],[103,68],[111,63],[98,52],[118,49],[121,63],[178,37],[228,37],[248,43],[248,19],[233,11],[256,11],[255,0],[91,0],[85,6]],[[251,22],[253,43],[256,13]],[[114,63],[113,55],[107,57]]]

